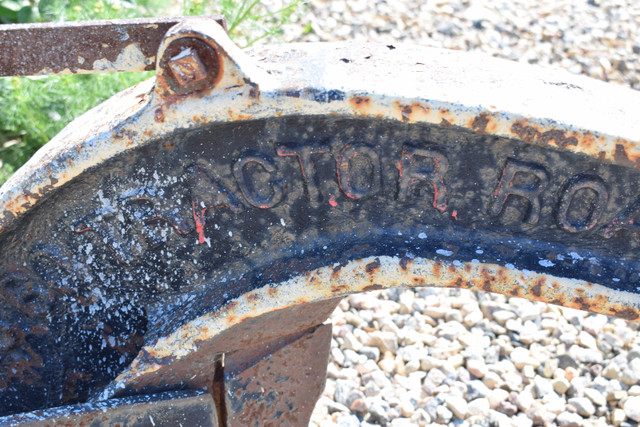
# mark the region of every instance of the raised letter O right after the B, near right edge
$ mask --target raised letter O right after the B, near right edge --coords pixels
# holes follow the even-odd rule
[[[595,193],[595,203],[585,200],[588,193]],[[591,230],[598,223],[608,201],[609,192],[599,177],[574,177],[560,197],[558,223],[571,233]]]

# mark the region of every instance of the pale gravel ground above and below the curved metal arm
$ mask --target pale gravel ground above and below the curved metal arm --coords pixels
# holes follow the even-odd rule
[[[637,0],[325,0],[284,38],[481,51],[640,89],[639,26]],[[312,425],[640,421],[637,323],[447,289],[353,295],[331,321]]]

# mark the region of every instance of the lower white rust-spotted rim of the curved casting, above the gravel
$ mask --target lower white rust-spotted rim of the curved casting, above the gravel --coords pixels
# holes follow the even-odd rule
[[[241,340],[220,345],[218,338],[224,331],[247,319],[351,293],[421,286],[496,292],[626,320],[640,317],[640,296],[582,280],[509,269],[497,264],[372,256],[346,265],[328,265],[304,276],[264,286],[183,325],[171,335],[144,346],[130,367],[105,388],[100,399],[152,382],[153,376],[167,361],[176,363],[198,351],[212,348],[221,353],[243,348],[246,343]]]

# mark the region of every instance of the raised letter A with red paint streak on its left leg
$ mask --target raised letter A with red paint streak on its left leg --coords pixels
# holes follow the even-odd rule
[[[198,243],[208,242],[208,238],[204,235],[204,226],[206,224],[207,209],[214,209],[218,206],[224,206],[233,213],[240,213],[243,210],[242,203],[227,190],[217,179],[201,165],[194,164],[187,168],[187,178],[191,191],[191,210],[193,212],[193,220],[196,223],[196,233],[198,234]]]

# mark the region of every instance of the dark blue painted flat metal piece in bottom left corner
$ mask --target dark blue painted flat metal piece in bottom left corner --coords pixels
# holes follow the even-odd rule
[[[167,392],[63,406],[0,417],[0,426],[21,427],[218,427],[210,394]]]

